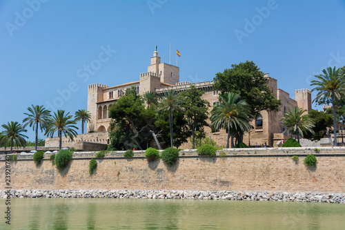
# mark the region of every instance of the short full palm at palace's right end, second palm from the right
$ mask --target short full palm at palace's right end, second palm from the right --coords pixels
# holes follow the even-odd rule
[[[288,113],[284,113],[284,117],[280,120],[283,120],[283,125],[288,127],[287,130],[292,129],[296,132],[297,135],[297,142],[299,143],[299,133],[301,133],[303,137],[303,131],[309,131],[314,134],[313,127],[314,122],[311,117],[308,115],[302,115],[306,110],[303,108],[298,108],[295,106],[294,108],[290,108]]]

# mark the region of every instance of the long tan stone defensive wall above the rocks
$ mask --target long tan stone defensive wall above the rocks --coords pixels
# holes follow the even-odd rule
[[[226,157],[219,157],[219,153]],[[166,189],[345,193],[345,148],[242,148],[217,151],[201,157],[180,151],[174,166],[158,159],[148,162],[144,151],[127,159],[124,151],[97,159],[96,171],[88,166],[95,152],[74,153],[66,169],[52,165],[49,154],[36,165],[32,154],[10,162],[12,189]],[[308,154],[317,168],[304,165]],[[295,162],[293,155],[298,155]],[[5,155],[0,156],[0,189],[5,189]]]

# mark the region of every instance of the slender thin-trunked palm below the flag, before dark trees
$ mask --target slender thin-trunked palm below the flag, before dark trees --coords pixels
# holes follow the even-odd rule
[[[170,146],[172,147],[172,139],[173,139],[173,128],[172,128],[172,121],[174,111],[181,111],[182,110],[182,99],[181,96],[175,93],[174,89],[166,90],[164,97],[161,98],[161,102],[159,104],[159,111],[168,111],[169,112],[169,127],[170,127]]]

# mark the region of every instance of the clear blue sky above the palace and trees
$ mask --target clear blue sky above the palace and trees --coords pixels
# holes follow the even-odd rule
[[[345,1],[0,0],[0,125],[31,104],[87,109],[88,84],[139,80],[155,45],[169,63],[169,43],[181,82],[250,60],[294,99],[323,68],[345,66],[344,41]]]

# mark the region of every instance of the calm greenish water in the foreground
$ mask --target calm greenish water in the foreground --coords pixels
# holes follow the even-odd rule
[[[345,204],[13,199],[11,209],[0,229],[345,229]]]

